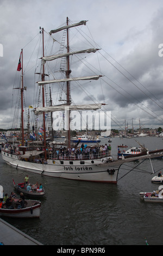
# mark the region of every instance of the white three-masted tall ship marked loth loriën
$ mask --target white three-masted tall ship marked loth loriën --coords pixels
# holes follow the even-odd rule
[[[98,48],[86,48],[80,51],[71,51],[69,45],[70,29],[74,29],[80,26],[85,26],[86,21],[80,21],[77,23],[70,23],[70,20],[66,20],[65,26],[57,29],[53,29],[49,32],[49,37],[52,40],[55,33],[61,31],[64,32],[63,38],[66,39],[66,46],[63,44],[62,40],[60,45],[64,48],[62,52],[57,54],[52,54],[51,56],[45,56],[45,31],[40,28],[40,34],[42,35],[42,56],[41,56],[41,72],[39,77],[40,81],[37,81],[37,86],[41,88],[42,92],[42,106],[33,106],[33,113],[36,117],[42,116],[42,140],[32,140],[26,143],[26,137],[24,136],[24,124],[23,124],[23,92],[26,88],[23,86],[23,66],[21,66],[22,71],[22,84],[18,88],[21,91],[21,143],[16,145],[14,143],[5,143],[1,150],[3,160],[14,167],[15,169],[22,169],[24,171],[29,171],[41,175],[47,175],[56,178],[65,178],[72,180],[81,181],[93,181],[93,182],[107,182],[107,183],[117,183],[118,171],[122,164],[139,160],[148,159],[156,157],[156,155],[163,155],[162,150],[156,150],[152,152],[143,151],[139,155],[133,155],[127,158],[122,157],[121,160],[114,159],[111,156],[111,151],[105,149],[103,151],[99,150],[99,147],[86,147],[81,149],[79,143],[72,144],[71,141],[71,111],[96,111],[97,109],[103,109],[105,103],[93,102],[82,105],[73,105],[71,99],[71,86],[77,81],[93,81],[96,83],[98,80],[102,79],[102,75],[91,75],[91,76],[79,76],[73,77],[70,68],[70,57],[73,56],[84,56],[85,54],[96,53],[100,51]],[[56,41],[56,40],[55,40]],[[58,41],[57,41],[58,42]],[[76,41],[74,40],[74,43]],[[82,44],[82,43],[81,43]],[[84,54],[84,55],[83,55]],[[23,63],[23,50],[21,52],[21,58]],[[51,62],[57,62],[59,59],[66,60],[66,68],[60,68],[61,77],[58,78],[58,74],[54,75],[53,79],[49,78],[46,74],[45,68]],[[78,58],[77,60],[81,60]],[[74,69],[75,71],[79,71]],[[81,70],[82,71],[82,70]],[[63,75],[64,74],[64,75]],[[45,90],[48,85],[55,86],[55,84],[62,86],[65,84],[65,103],[60,105],[53,105],[52,101],[49,106],[45,106]],[[74,87],[73,87],[74,89]],[[48,142],[46,137],[46,117],[48,114],[55,113],[56,111],[66,113],[66,118],[64,114],[64,125],[67,127],[67,136],[64,143],[56,144],[52,141]],[[34,130],[33,130],[34,132]],[[52,132],[53,133],[53,132]],[[53,136],[54,138],[54,136]],[[83,150],[83,151],[82,151]]]

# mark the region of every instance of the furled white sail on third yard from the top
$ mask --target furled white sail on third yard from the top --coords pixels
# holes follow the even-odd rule
[[[98,80],[99,77],[101,77],[101,75],[71,77],[71,78],[55,79],[55,80],[48,80],[48,81],[40,81],[40,82],[37,82],[37,84],[41,86],[42,84],[49,84],[49,83],[60,83],[60,82],[70,82],[70,81],[79,81],[79,80]]]

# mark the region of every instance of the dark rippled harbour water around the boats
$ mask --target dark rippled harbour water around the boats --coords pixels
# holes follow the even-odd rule
[[[161,138],[137,140],[149,150],[163,148]],[[102,139],[101,144],[105,142],[108,140]],[[113,155],[116,156],[116,147],[122,143],[137,147],[134,139],[115,138],[111,143]],[[163,172],[163,160],[152,160],[152,163],[155,171]],[[151,182],[154,175],[148,160],[129,172],[136,164],[121,168],[117,185],[49,178],[28,172],[30,182],[39,181],[46,188],[40,218],[3,219],[44,245],[146,245],[145,237],[149,245],[162,245],[163,204],[144,203],[139,197],[139,192],[157,190],[158,185]],[[26,174],[5,164],[1,155],[0,173],[5,193],[13,191],[12,178],[16,183],[22,182]]]

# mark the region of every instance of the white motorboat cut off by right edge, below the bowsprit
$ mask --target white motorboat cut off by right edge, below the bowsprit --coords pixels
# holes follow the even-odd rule
[[[153,192],[140,192],[140,198],[145,202],[163,203],[163,186]]]

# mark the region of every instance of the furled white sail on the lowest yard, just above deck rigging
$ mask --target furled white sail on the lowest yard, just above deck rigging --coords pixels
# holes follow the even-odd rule
[[[59,106],[51,106],[51,107],[37,107],[34,109],[34,113],[36,115],[42,114],[43,112],[53,112],[53,111],[65,111],[65,110],[97,110],[102,107],[104,103],[97,104],[86,104],[86,105],[59,105]]]

